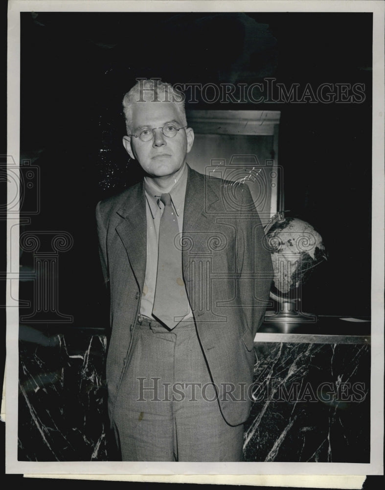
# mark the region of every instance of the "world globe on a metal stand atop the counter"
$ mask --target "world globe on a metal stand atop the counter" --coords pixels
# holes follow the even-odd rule
[[[322,238],[314,227],[298,218],[278,213],[265,227],[266,247],[272,255],[274,281],[271,297],[279,304],[267,321],[313,321],[300,311],[301,286],[313,269],[327,258]]]

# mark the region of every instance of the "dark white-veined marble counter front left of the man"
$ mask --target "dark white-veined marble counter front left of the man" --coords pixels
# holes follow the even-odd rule
[[[22,326],[21,339],[18,459],[106,461],[105,335]]]

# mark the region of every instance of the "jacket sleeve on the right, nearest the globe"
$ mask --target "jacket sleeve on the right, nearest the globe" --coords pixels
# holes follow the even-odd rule
[[[272,259],[265,245],[265,232],[247,184],[243,185],[237,236],[239,297],[254,337],[269,304],[273,279]]]

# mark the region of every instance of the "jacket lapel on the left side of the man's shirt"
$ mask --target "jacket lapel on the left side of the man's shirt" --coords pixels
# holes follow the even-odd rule
[[[130,191],[126,201],[117,211],[122,221],[116,226],[116,232],[126,249],[141,291],[144,284],[147,255],[146,196],[143,181]]]

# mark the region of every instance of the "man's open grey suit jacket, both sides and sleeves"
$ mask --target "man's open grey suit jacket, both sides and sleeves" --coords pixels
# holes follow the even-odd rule
[[[143,182],[99,202],[96,219],[101,264],[110,285],[112,332],[106,374],[112,420],[146,269]],[[272,281],[264,236],[246,184],[206,177],[188,167],[180,244],[183,279],[221,411],[230,425],[249,415],[253,341]]]

